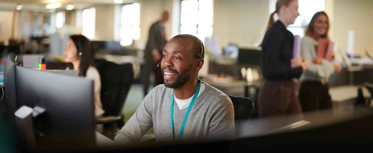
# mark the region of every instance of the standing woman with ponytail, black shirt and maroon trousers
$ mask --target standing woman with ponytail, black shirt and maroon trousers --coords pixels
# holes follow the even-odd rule
[[[275,13],[278,14],[276,22],[273,19]],[[296,95],[298,85],[294,80],[307,69],[308,61],[300,56],[293,58],[294,35],[286,29],[298,16],[298,0],[278,0],[276,10],[270,16],[261,44],[265,81],[258,96],[260,118],[297,114],[298,119],[303,119]]]

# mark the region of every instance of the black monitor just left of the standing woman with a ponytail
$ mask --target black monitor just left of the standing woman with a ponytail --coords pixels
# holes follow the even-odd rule
[[[256,65],[260,66],[261,51],[256,49],[238,49],[238,65]]]

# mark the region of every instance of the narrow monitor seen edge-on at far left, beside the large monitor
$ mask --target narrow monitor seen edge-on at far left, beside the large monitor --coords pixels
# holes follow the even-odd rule
[[[14,112],[17,110],[16,101],[16,65],[18,63],[12,57],[7,56],[5,69],[4,69],[4,98],[6,115],[14,124]]]

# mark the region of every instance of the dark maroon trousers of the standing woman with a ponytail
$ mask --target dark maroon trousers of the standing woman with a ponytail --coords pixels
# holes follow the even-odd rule
[[[259,118],[294,115],[303,120],[296,91],[297,83],[290,80],[264,81],[258,96]]]

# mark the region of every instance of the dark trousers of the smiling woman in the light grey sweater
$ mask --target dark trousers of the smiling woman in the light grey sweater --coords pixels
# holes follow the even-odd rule
[[[320,81],[302,82],[299,90],[299,100],[303,112],[332,108],[329,85],[323,85]]]

